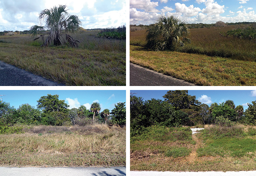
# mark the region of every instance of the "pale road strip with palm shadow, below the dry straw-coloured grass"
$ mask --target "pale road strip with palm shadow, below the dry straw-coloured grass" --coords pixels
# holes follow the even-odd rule
[[[0,167],[1,176],[125,176],[126,167]]]

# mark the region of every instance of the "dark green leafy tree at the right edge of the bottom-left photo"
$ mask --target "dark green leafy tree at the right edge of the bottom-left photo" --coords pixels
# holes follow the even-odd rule
[[[112,114],[111,122],[113,124],[124,125],[126,124],[126,107],[125,102],[115,104],[115,108],[110,112]]]

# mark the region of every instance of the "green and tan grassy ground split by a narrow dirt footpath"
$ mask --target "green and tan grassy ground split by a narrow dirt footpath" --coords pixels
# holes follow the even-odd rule
[[[131,170],[256,170],[256,127],[148,128],[131,138],[130,156]]]

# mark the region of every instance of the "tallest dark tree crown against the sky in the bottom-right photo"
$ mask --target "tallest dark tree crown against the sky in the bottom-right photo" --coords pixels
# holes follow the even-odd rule
[[[165,101],[174,106],[177,110],[193,109],[200,110],[200,104],[196,96],[188,94],[188,90],[169,90],[164,96]]]

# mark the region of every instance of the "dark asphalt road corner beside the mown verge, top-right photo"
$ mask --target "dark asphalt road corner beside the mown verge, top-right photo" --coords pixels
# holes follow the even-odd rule
[[[196,86],[195,84],[130,63],[130,86]]]

